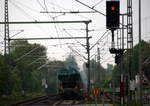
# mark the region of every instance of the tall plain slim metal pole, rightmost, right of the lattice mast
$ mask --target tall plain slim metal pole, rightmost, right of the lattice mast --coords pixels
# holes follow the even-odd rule
[[[140,74],[140,106],[143,106],[142,102],[142,65],[141,65],[141,0],[139,0],[139,74]]]

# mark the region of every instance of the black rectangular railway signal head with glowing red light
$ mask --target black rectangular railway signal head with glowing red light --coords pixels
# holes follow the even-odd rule
[[[120,2],[106,1],[106,27],[114,30],[119,27]]]

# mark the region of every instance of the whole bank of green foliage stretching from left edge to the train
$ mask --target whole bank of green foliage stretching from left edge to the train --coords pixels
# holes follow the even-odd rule
[[[10,54],[0,54],[0,105],[7,101],[16,101],[18,97],[26,97],[28,94],[56,93],[58,70],[53,67],[63,62],[49,61],[50,67],[41,67],[47,62],[44,46],[30,44],[28,41],[11,42]],[[42,79],[46,79],[47,89],[42,85]]]

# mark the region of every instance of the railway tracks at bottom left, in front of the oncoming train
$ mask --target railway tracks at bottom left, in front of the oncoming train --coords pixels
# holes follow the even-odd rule
[[[64,100],[57,95],[51,97],[41,96],[30,100],[18,102],[9,106],[72,106],[83,104],[80,100]]]

